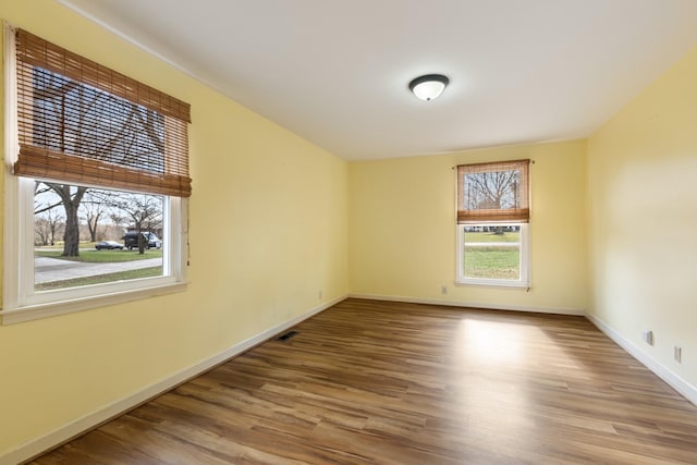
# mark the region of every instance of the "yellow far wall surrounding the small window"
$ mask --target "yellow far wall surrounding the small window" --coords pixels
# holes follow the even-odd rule
[[[586,308],[584,140],[351,163],[354,294],[488,307]],[[531,289],[454,286],[456,164],[530,158]],[[448,294],[441,294],[441,286]]]

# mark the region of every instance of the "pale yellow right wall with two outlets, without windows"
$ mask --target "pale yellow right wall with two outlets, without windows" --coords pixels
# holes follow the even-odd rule
[[[588,142],[590,310],[697,386],[697,49]],[[655,346],[641,341],[652,330]],[[673,360],[682,345],[683,363]]]

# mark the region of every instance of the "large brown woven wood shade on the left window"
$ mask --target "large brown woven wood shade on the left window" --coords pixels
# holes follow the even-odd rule
[[[191,196],[189,106],[16,34],[17,175]]]

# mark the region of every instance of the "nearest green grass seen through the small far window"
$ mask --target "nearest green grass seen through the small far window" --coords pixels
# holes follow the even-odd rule
[[[465,277],[516,280],[521,278],[519,260],[517,247],[465,246]]]

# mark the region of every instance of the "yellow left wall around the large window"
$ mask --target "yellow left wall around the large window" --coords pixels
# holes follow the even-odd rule
[[[0,327],[8,451],[347,293],[347,166],[54,1],[0,17],[192,105],[185,293]]]

